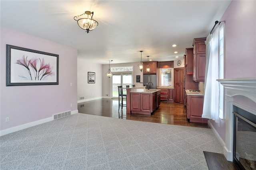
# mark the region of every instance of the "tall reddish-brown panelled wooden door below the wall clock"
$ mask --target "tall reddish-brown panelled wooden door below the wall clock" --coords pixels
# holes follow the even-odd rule
[[[184,67],[174,68],[174,102],[184,104]]]

